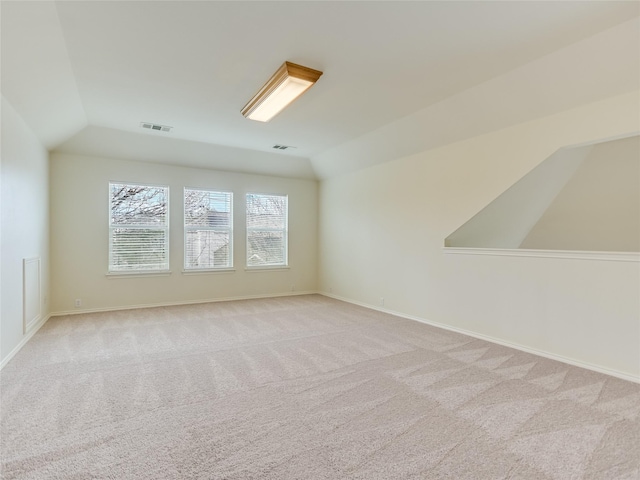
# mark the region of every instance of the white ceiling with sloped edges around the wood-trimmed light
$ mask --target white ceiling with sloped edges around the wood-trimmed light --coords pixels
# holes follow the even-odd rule
[[[312,178],[326,152],[639,5],[3,0],[1,87],[50,150]],[[324,75],[271,122],[245,119],[285,60]]]

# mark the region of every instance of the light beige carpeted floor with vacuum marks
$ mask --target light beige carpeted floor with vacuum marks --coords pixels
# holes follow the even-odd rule
[[[640,385],[318,295],[52,318],[5,479],[638,479]]]

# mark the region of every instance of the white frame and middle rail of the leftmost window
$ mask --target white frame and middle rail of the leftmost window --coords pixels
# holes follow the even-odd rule
[[[114,185],[123,185],[129,187],[151,187],[151,188],[160,188],[165,191],[165,212],[164,224],[114,224],[113,216],[112,216],[112,188]],[[169,271],[169,260],[170,260],[170,251],[169,251],[169,213],[170,213],[170,203],[169,203],[169,186],[168,185],[152,185],[147,183],[140,182],[120,182],[120,181],[110,181],[109,182],[109,259],[108,259],[108,273],[115,275],[136,275],[136,274],[159,274],[159,273],[170,273]],[[125,228],[128,230],[157,230],[158,232],[162,232],[164,236],[163,248],[165,252],[164,263],[159,264],[158,268],[122,268],[119,265],[114,265],[114,251],[113,251],[113,239],[114,239],[114,230],[118,228]]]

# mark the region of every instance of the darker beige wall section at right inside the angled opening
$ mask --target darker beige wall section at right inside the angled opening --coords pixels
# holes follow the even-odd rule
[[[520,248],[640,252],[640,137],[595,145]]]

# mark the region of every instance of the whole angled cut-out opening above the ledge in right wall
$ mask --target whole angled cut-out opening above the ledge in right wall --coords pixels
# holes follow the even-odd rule
[[[640,136],[561,148],[445,246],[640,252]]]

